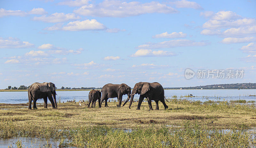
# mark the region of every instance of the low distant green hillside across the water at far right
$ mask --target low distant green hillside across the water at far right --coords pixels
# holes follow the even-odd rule
[[[167,87],[164,89],[256,89],[256,83],[213,84],[195,87]]]

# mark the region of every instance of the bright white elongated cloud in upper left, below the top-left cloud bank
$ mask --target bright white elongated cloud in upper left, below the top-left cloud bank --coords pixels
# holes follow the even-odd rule
[[[65,31],[82,31],[82,30],[104,30],[106,26],[99,23],[96,19],[87,19],[84,21],[73,21],[69,22],[65,26],[57,24],[56,26],[46,27],[46,30],[65,30]]]

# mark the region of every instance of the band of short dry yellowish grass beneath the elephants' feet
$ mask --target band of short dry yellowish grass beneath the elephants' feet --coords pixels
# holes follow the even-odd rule
[[[136,110],[137,103],[133,103],[131,109],[128,105],[118,108],[115,102],[109,102],[109,107],[86,108],[78,103],[59,103],[58,109],[44,109],[43,105],[37,105],[37,110],[28,110],[27,104],[1,104],[0,121],[14,121],[18,125],[33,122],[42,127],[52,127],[57,124],[64,128],[74,128],[81,125],[86,127],[108,126],[110,128],[133,129],[149,127],[150,120],[155,126],[163,125],[179,126],[184,121],[198,122],[199,125],[207,124],[209,128],[217,129],[248,129],[256,126],[255,109],[220,104],[182,104],[167,103],[168,110],[164,110],[159,103],[160,110],[148,111],[148,103],[143,102],[141,110]],[[154,102],[152,104],[155,104]],[[236,104],[237,105],[237,104]],[[154,107],[153,107],[154,108]]]

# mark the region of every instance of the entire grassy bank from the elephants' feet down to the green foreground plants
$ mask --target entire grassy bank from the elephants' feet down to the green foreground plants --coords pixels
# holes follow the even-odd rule
[[[141,110],[136,110],[136,102],[131,109],[127,105],[117,108],[115,102],[102,108],[59,103],[57,110],[51,109],[50,104],[49,109],[37,105],[37,110],[28,110],[27,104],[1,104],[0,137],[70,138],[69,145],[77,147],[250,147],[255,144],[250,133],[243,132],[256,126],[253,103],[177,98],[169,98],[169,102],[168,110],[159,103],[159,111],[148,111],[147,102],[142,103]],[[220,129],[231,130],[221,132]]]

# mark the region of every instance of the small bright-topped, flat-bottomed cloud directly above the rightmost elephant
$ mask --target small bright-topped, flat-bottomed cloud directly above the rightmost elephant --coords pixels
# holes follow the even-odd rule
[[[132,57],[170,57],[175,55],[177,54],[170,51],[152,51],[149,49],[139,49],[134,54],[132,54]]]

